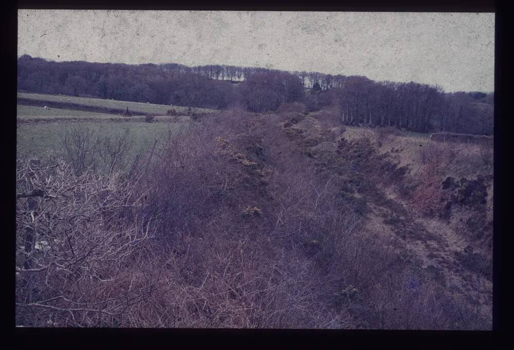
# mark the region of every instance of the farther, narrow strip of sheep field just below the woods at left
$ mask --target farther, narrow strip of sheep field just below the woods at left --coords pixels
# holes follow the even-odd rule
[[[153,114],[161,114],[165,115],[168,109],[174,108],[178,112],[185,112],[188,107],[180,107],[180,106],[169,106],[169,105],[157,105],[153,103],[142,103],[142,102],[128,102],[128,101],[116,101],[116,100],[104,100],[104,99],[94,99],[94,98],[85,98],[85,97],[76,97],[76,96],[67,96],[67,95],[48,95],[42,93],[29,93],[29,92],[17,92],[18,98],[30,99],[30,100],[40,100],[40,101],[51,101],[51,102],[60,102],[60,103],[75,103],[84,106],[94,106],[94,107],[103,107],[103,108],[117,108],[117,109],[125,109],[128,107],[130,110],[142,111],[145,113],[153,113]],[[207,112],[212,111],[212,109],[206,108],[191,108],[193,112]],[[50,109],[51,111],[51,109]]]

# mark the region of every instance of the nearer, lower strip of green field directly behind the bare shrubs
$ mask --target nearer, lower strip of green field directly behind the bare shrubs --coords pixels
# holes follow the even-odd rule
[[[62,154],[61,135],[78,126],[94,130],[100,137],[128,132],[133,140],[132,153],[151,147],[154,141],[166,140],[169,132],[176,132],[187,123],[145,122],[52,122],[18,124],[16,126],[16,151],[24,157],[47,159]]]

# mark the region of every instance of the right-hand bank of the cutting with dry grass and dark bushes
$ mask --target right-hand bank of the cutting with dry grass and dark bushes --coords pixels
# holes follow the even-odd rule
[[[393,239],[413,266],[491,319],[490,147],[362,129],[343,133],[335,148],[337,131],[310,116],[289,118],[283,127],[318,171],[344,179],[341,191],[372,235]]]

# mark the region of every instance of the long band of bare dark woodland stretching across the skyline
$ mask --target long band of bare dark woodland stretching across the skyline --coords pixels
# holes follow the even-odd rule
[[[222,65],[57,63],[23,55],[17,66],[17,88],[31,92],[254,112],[301,102],[310,111],[337,111],[343,124],[493,134],[493,93]]]

